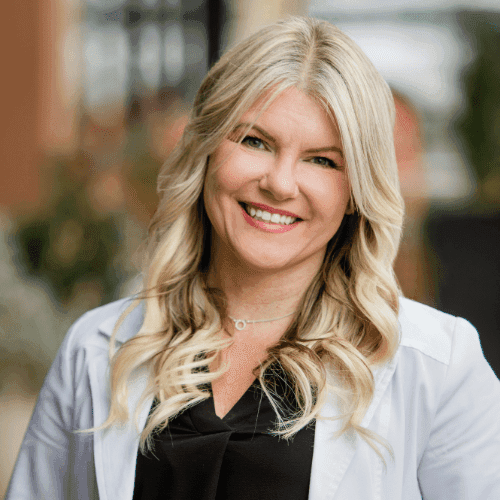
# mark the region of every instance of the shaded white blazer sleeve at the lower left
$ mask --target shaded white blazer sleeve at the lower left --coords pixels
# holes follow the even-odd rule
[[[92,436],[73,432],[75,414],[89,400],[85,350],[74,347],[79,323],[68,332],[44,381],[6,500],[97,498]]]

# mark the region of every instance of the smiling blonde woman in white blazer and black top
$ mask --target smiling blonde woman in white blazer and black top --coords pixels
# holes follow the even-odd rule
[[[477,333],[399,296],[393,122],[326,22],[229,51],[160,173],[145,291],[68,333],[7,498],[500,498]]]

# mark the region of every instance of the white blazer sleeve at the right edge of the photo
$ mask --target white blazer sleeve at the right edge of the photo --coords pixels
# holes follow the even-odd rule
[[[418,479],[425,500],[500,499],[500,381],[462,318]]]

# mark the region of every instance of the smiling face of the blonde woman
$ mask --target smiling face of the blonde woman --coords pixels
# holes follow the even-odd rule
[[[295,88],[259,116],[260,104],[209,159],[204,202],[213,258],[230,256],[255,271],[317,270],[350,195],[337,127]]]

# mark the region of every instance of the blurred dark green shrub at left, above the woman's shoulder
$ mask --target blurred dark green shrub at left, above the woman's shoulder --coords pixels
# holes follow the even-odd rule
[[[96,210],[78,159],[54,160],[45,171],[53,176],[51,199],[41,213],[18,221],[18,263],[43,278],[63,304],[82,282],[92,283],[101,302],[111,300],[121,279],[113,265],[119,215]]]

